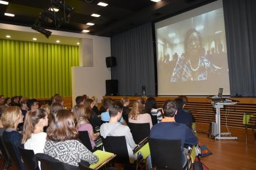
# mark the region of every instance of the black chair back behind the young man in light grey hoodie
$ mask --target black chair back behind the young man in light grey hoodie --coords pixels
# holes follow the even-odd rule
[[[105,151],[116,154],[113,162],[130,164],[125,136],[106,136],[106,138],[101,136],[101,139]]]

